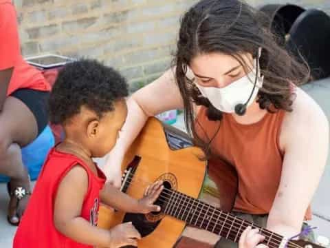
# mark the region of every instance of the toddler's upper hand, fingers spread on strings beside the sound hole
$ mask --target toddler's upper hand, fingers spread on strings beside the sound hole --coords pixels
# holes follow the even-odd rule
[[[141,213],[148,214],[151,211],[160,211],[161,208],[157,205],[154,205],[155,200],[157,200],[159,194],[164,189],[163,181],[159,180],[146,188],[144,192],[144,197],[141,198],[139,204],[141,206]]]

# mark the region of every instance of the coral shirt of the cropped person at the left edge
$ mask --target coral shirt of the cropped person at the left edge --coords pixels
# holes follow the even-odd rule
[[[14,68],[7,95],[29,88],[50,91],[39,70],[26,63],[19,48],[17,14],[11,1],[0,0],[0,70]]]

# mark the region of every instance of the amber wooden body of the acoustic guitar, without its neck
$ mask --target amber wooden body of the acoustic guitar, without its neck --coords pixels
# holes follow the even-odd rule
[[[192,198],[201,197],[204,201],[212,202],[210,203],[212,205],[230,211],[236,195],[234,172],[231,169],[224,170],[224,167],[221,167],[222,171],[221,168],[215,170],[216,163],[211,163],[210,171],[214,173],[208,176],[206,161],[199,159],[200,156],[203,156],[201,149],[197,147],[170,149],[169,136],[166,136],[166,133],[172,137],[175,136],[177,141],[180,140],[178,137],[182,137],[183,141],[188,140],[186,134],[173,127],[166,131],[156,118],[149,118],[124,157],[122,171],[131,167],[134,169],[134,176],[133,179],[124,178],[124,180],[131,180],[131,183],[123,191],[133,198],[142,198],[146,187],[160,179],[164,180],[167,188],[175,189]],[[221,177],[223,178],[221,179]],[[225,190],[221,194],[217,188]],[[232,196],[228,197],[230,194]],[[221,198],[223,198],[223,203],[221,203]],[[189,241],[187,247],[192,247],[192,244],[195,244],[195,247],[201,247],[201,241],[198,241],[200,234],[196,235],[201,230],[190,228],[190,231],[185,232],[189,238],[182,238],[186,223],[177,218],[158,213],[126,214],[122,211],[113,211],[106,206],[100,207],[99,227],[110,229],[127,221],[132,221],[135,228],[142,234],[138,247],[168,248],[175,245],[186,247],[187,240]],[[194,230],[198,231],[194,233]],[[203,233],[210,234],[207,231],[203,231]],[[180,238],[181,241],[178,242]]]

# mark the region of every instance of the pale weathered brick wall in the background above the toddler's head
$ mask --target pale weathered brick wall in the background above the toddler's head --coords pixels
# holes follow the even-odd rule
[[[197,0],[14,0],[24,56],[57,53],[100,59],[135,90],[162,74],[182,12]],[[248,0],[254,6],[287,0]],[[329,0],[293,0],[330,12]]]

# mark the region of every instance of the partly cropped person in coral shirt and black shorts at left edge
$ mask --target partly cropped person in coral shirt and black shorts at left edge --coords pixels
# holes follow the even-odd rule
[[[21,147],[47,125],[50,85],[20,54],[17,14],[11,1],[0,0],[0,174],[10,176],[8,222],[18,225],[30,197],[30,180]]]

